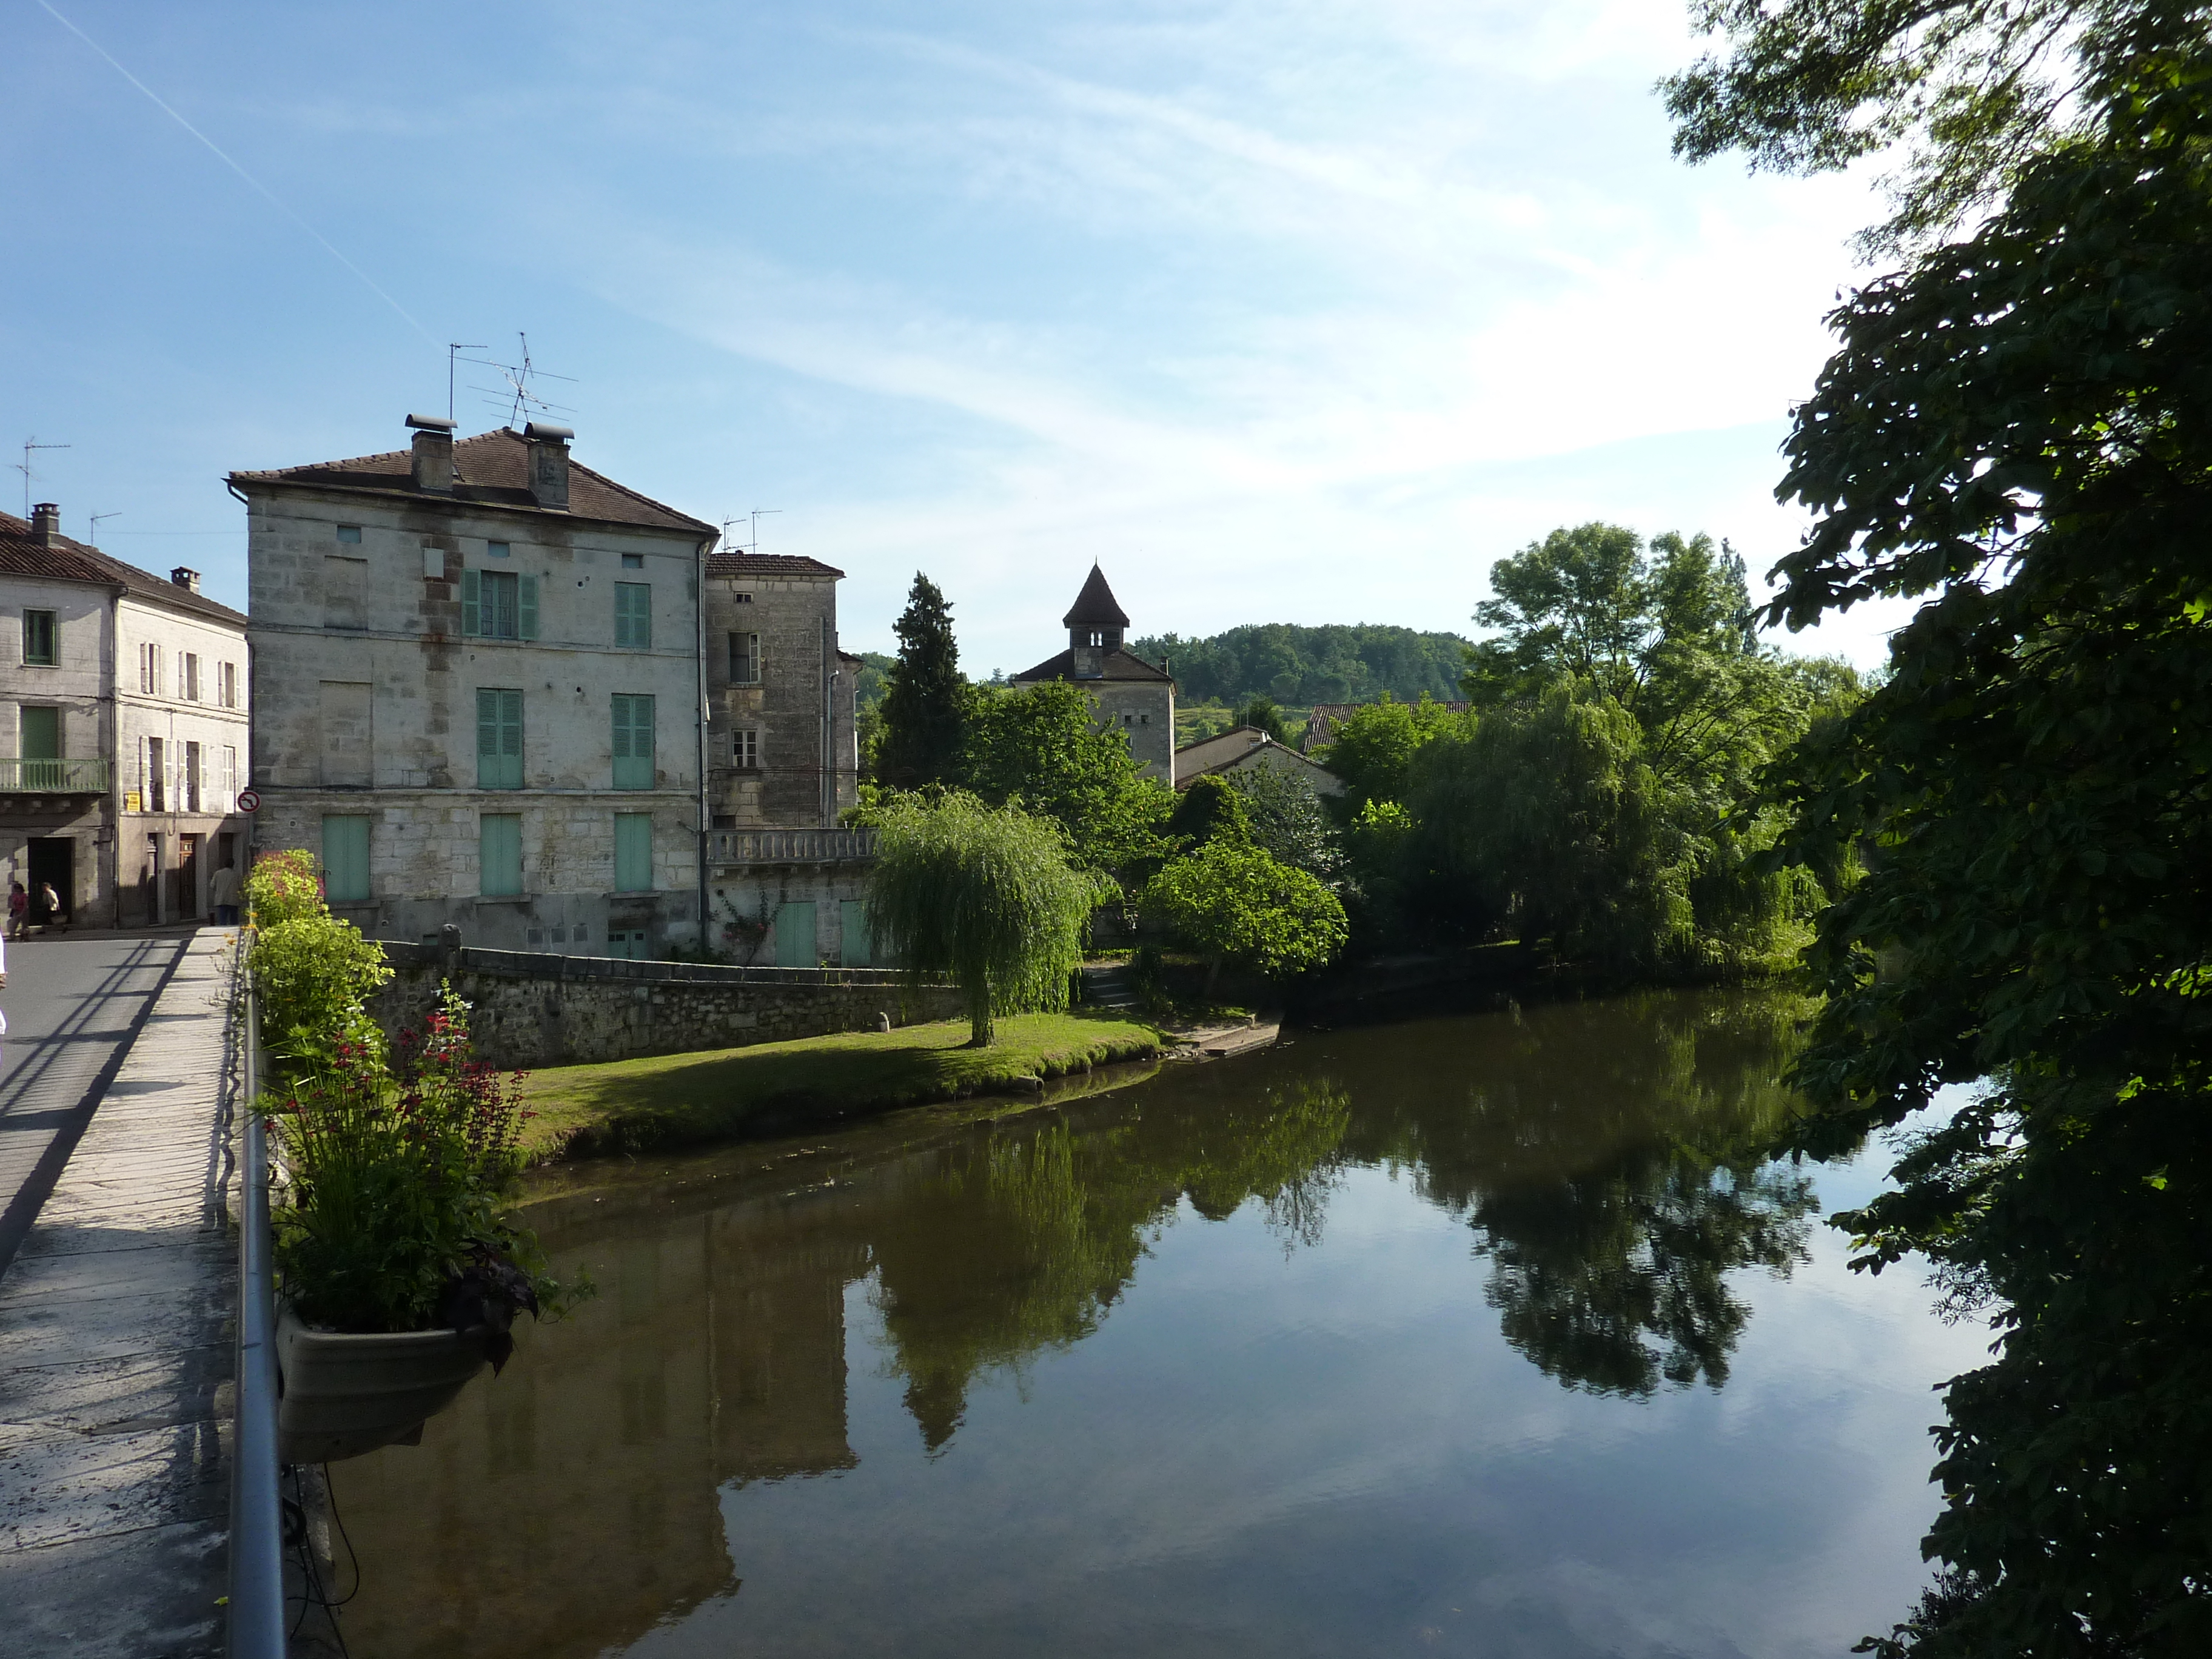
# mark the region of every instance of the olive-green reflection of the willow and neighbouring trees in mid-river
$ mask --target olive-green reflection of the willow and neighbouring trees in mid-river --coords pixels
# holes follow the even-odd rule
[[[1349,1102],[1327,1082],[1110,1130],[1013,1124],[942,1152],[876,1234],[874,1301],[931,1451],[969,1385],[1097,1329],[1177,1199],[1212,1221],[1259,1199],[1285,1250],[1321,1239]]]

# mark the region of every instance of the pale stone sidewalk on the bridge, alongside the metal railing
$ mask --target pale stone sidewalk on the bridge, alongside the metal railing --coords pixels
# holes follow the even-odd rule
[[[223,1121],[237,1091],[230,936],[201,929],[184,945],[0,1276],[9,1659],[223,1652],[237,1305],[223,1212]]]

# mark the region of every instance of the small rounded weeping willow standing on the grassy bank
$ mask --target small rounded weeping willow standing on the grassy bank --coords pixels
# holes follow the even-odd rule
[[[900,796],[880,818],[869,918],[914,975],[967,993],[973,1046],[991,1018],[1068,1004],[1099,878],[1075,869],[1060,832],[971,794]]]

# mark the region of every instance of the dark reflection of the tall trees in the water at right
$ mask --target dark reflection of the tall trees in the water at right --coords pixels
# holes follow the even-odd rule
[[[1455,1108],[1409,1102],[1374,1150],[1418,1164],[1425,1194],[1478,1230],[1486,1298],[1546,1376],[1599,1394],[1721,1387],[1750,1318],[1730,1276],[1805,1261],[1812,1181],[1765,1157],[1796,1104],[1778,1077],[1798,1006],[1650,993],[1537,1009],[1462,1066],[1478,1082]]]

